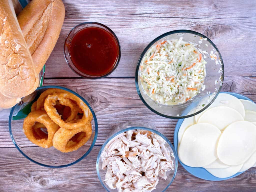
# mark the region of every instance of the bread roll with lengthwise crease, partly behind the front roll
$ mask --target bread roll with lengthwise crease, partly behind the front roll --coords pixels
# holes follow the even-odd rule
[[[33,0],[17,18],[38,74],[58,40],[65,7],[61,0]]]

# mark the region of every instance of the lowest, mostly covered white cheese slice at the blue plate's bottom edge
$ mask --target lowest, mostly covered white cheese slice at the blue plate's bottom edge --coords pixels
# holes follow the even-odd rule
[[[206,170],[215,177],[226,178],[226,177],[231,177],[232,175],[238,173],[242,166],[243,164],[230,166],[224,169],[206,169]]]

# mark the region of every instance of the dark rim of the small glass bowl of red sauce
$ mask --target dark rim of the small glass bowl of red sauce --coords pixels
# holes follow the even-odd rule
[[[94,76],[90,76],[90,77],[84,76],[83,74],[85,74],[85,73],[80,74],[80,73],[78,73],[77,71],[75,71],[73,68],[71,68],[71,64],[70,64],[70,62],[69,62],[68,59],[67,59],[68,56],[66,55],[66,42],[67,42],[68,36],[70,35],[70,33],[71,33],[74,29],[76,29],[76,28],[78,28],[78,27],[80,27],[80,26],[84,26],[84,25],[86,26],[86,25],[88,25],[88,24],[94,24],[94,25],[98,25],[98,26],[101,26],[101,27],[103,27],[103,28],[106,28],[106,29],[114,36],[114,38],[115,38],[115,40],[116,40],[116,42],[117,42],[117,44],[118,44],[119,54],[118,54],[118,59],[117,59],[116,62],[115,62],[115,66],[114,66],[108,73],[106,73],[106,74],[104,74],[104,75],[102,75],[102,76],[95,76],[95,77],[94,77]],[[120,59],[121,59],[121,45],[120,45],[120,42],[119,42],[118,37],[116,36],[116,34],[115,34],[108,26],[106,26],[106,25],[104,25],[104,24],[102,24],[102,23],[98,23],[98,22],[83,22],[83,23],[80,23],[80,24],[74,26],[74,27],[69,31],[68,35],[66,36],[66,39],[65,39],[65,42],[64,42],[64,50],[63,50],[63,52],[64,52],[65,60],[66,60],[66,62],[68,63],[68,66],[70,67],[70,69],[71,69],[73,72],[75,72],[77,75],[79,75],[80,77],[86,78],[86,79],[101,79],[101,78],[104,78],[104,77],[109,76],[109,75],[110,75],[111,73],[113,73],[114,70],[117,68],[117,66],[119,65]],[[71,59],[71,58],[70,58],[70,59]],[[78,70],[78,71],[79,71],[79,70]]]

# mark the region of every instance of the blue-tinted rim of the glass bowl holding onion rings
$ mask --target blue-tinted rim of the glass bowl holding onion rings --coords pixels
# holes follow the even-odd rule
[[[81,161],[84,157],[86,157],[92,150],[92,148],[94,147],[95,145],[95,142],[97,140],[97,136],[98,136],[98,121],[97,121],[97,118],[96,118],[96,115],[91,107],[91,105],[86,101],[86,99],[84,99],[82,96],[80,96],[78,93],[66,88],[66,87],[61,87],[61,86],[42,86],[42,87],[38,87],[35,91],[37,90],[41,90],[41,89],[49,89],[49,88],[57,88],[57,89],[63,89],[63,90],[66,90],[70,93],[73,93],[74,95],[76,95],[77,97],[79,97],[80,99],[82,99],[83,102],[85,102],[88,106],[88,108],[90,109],[90,111],[92,112],[92,116],[93,116],[93,120],[94,120],[94,125],[95,125],[95,134],[94,134],[94,138],[93,138],[93,141],[92,141],[92,144],[90,146],[90,148],[88,149],[88,151],[83,154],[83,156],[81,156],[80,158],[78,158],[76,161],[72,162],[72,163],[68,163],[68,164],[65,164],[65,165],[46,165],[46,164],[43,164],[43,163],[39,163],[33,159],[31,159],[30,157],[28,157],[22,150],[20,150],[20,148],[18,147],[18,145],[16,144],[15,140],[14,140],[14,137],[13,137],[13,134],[12,134],[12,128],[11,128],[11,123],[12,123],[12,116],[13,116],[13,112],[14,112],[14,109],[16,108],[16,106],[18,104],[16,104],[15,106],[13,106],[13,108],[11,109],[10,111],[10,116],[9,116],[9,121],[8,121],[8,126],[9,126],[9,133],[10,133],[10,137],[13,141],[13,144],[15,145],[15,147],[18,149],[18,151],[24,156],[26,157],[28,160],[30,160],[31,162],[33,163],[36,163],[38,165],[41,165],[41,166],[44,166],[44,167],[49,167],[49,168],[61,168],[61,167],[68,167],[70,165],[74,165],[76,163],[78,163],[79,161]]]

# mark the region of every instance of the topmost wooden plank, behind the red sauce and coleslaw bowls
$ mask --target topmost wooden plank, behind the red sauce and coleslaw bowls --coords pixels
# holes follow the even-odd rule
[[[134,77],[144,48],[157,36],[176,29],[195,30],[208,36],[221,52],[227,76],[256,76],[256,60],[251,54],[256,48],[256,1],[63,2],[66,17],[47,61],[47,78],[78,77],[65,61],[63,45],[74,26],[88,21],[107,25],[120,40],[121,61],[110,77]]]

